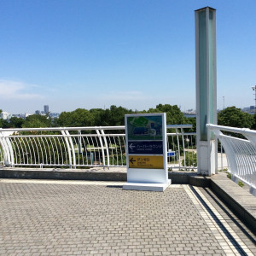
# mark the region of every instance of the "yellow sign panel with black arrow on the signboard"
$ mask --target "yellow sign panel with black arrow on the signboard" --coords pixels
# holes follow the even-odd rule
[[[164,169],[164,156],[129,155],[129,168]]]

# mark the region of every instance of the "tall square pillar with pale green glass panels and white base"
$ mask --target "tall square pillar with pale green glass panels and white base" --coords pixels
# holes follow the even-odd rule
[[[196,137],[198,173],[217,172],[217,143],[207,124],[217,124],[216,10],[195,10]]]

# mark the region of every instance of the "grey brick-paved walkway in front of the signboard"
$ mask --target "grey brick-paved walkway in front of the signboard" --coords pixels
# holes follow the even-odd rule
[[[210,189],[0,179],[1,255],[256,255],[252,232]]]

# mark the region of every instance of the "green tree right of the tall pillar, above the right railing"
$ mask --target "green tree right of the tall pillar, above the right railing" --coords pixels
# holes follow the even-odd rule
[[[218,113],[218,125],[251,129],[254,124],[255,119],[253,116],[242,112],[240,108],[224,108],[224,110]]]

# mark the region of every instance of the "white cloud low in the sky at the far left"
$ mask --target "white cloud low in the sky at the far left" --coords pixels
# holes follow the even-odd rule
[[[41,99],[43,96],[33,92],[37,87],[39,86],[35,84],[25,84],[22,82],[0,79],[0,98],[5,100]]]

